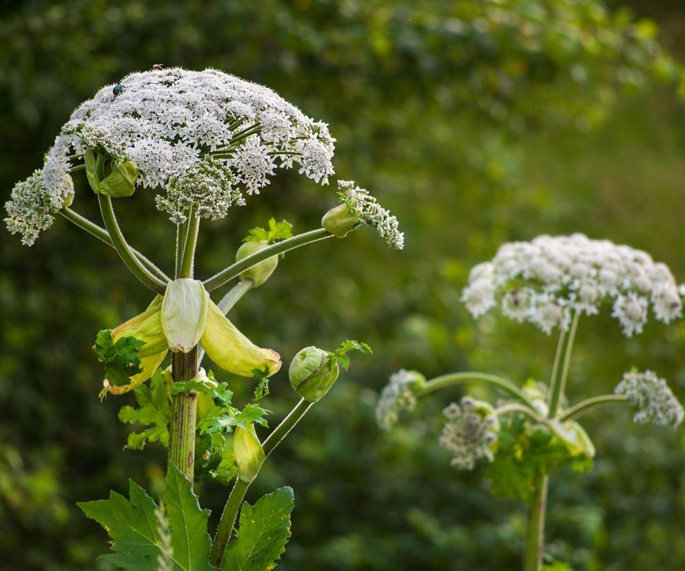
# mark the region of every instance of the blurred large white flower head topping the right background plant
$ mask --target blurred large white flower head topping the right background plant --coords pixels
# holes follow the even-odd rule
[[[573,234],[504,244],[471,270],[462,301],[474,317],[499,304],[507,317],[547,334],[568,328],[574,312],[597,314],[610,301],[612,316],[632,337],[642,332],[650,305],[664,323],[681,317],[681,296],[671,270],[646,252]]]

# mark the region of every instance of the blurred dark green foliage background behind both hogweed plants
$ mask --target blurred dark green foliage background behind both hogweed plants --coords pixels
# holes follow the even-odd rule
[[[274,454],[249,499],[289,483],[294,536],[279,569],[518,568],[522,505],[491,499],[437,445],[436,394],[391,434],[374,404],[400,367],[546,379],[554,339],[459,302],[469,268],[500,243],[585,232],[644,248],[685,281],[685,8],[673,0],[6,1],[0,8],[0,189],[41,163],[71,110],[154,63],[213,66],[265,83],[338,138],[336,170],[398,215],[407,248],[369,230],[288,254],[232,319],[289,361],[312,343],[367,341],[349,374]],[[658,33],[657,33],[658,32]],[[669,55],[670,54],[670,55]],[[79,177],[76,177],[77,179]],[[74,208],[96,219],[76,181]],[[144,205],[142,203],[145,203]],[[285,173],[207,223],[201,275],[221,269],[271,216],[318,225],[332,188]],[[118,204],[119,206],[119,204]],[[170,266],[173,227],[152,192],[121,201],[132,243]],[[94,334],[149,295],[113,250],[63,219],[27,250],[0,239],[0,570],[109,569],[102,530],[75,508],[132,477],[159,492],[165,451],[123,451],[130,397],[101,403]],[[580,325],[570,394],[611,390],[632,365],[685,400],[685,322],[626,341]],[[242,399],[251,387],[232,382]],[[296,401],[272,381],[272,424]],[[577,571],[685,567],[685,441],[628,412],[585,423],[589,476],[556,474],[549,552]],[[202,485],[216,523],[227,490]]]

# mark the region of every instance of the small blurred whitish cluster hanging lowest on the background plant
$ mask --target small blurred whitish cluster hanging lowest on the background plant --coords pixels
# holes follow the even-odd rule
[[[460,404],[444,409],[447,423],[440,435],[440,445],[452,454],[451,465],[458,470],[473,470],[476,461],[493,461],[499,421],[485,403],[463,397]]]

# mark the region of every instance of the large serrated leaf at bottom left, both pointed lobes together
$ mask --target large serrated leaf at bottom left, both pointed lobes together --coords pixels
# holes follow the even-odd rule
[[[158,558],[169,557],[157,522],[154,500],[134,481],[129,481],[129,499],[116,492],[110,499],[80,502],[79,508],[105,528],[112,539],[112,551],[101,556],[126,571],[156,571]],[[201,510],[190,482],[170,466],[162,492],[165,519],[171,532],[174,571],[209,571],[207,534],[209,510]]]

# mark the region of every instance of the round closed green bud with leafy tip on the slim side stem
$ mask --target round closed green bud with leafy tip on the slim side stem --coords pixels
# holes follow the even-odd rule
[[[329,365],[329,354],[323,349],[305,347],[290,362],[288,377],[296,392],[310,403],[323,398],[338,379],[338,363]]]

